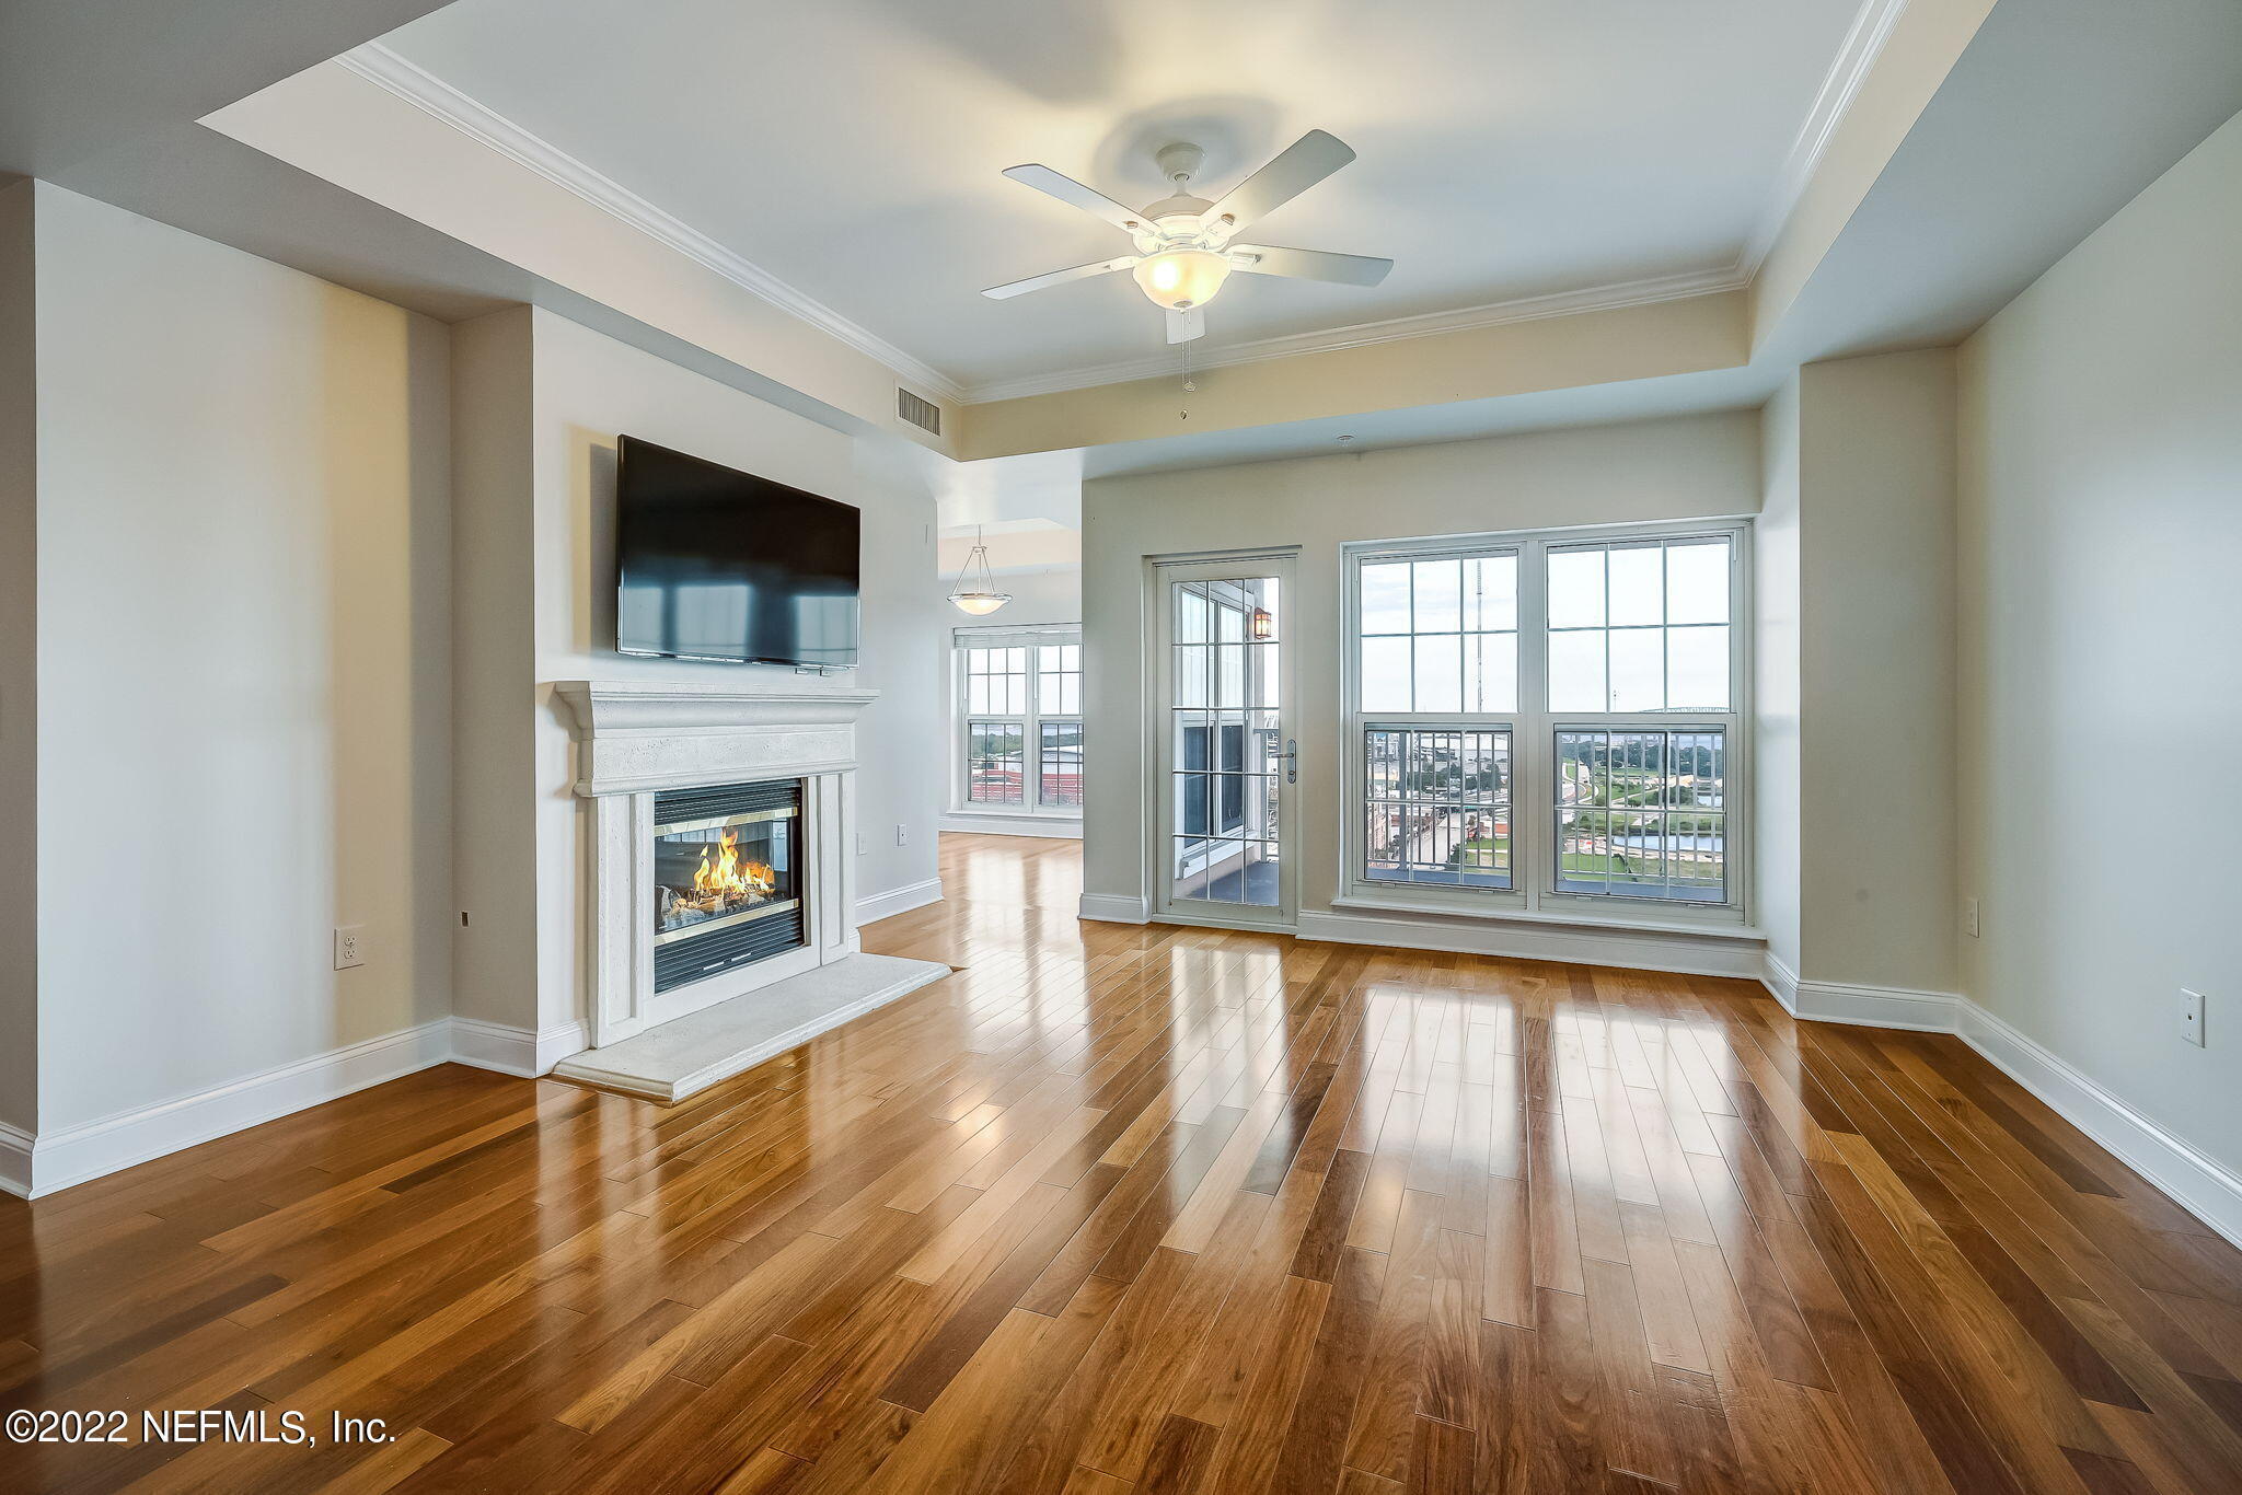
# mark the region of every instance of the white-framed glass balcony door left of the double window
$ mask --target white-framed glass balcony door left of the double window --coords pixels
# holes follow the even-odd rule
[[[1294,856],[1291,556],[1155,567],[1152,908],[1289,930]]]

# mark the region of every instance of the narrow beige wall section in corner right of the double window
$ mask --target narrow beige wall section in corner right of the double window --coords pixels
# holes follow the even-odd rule
[[[1953,350],[1798,370],[1798,975],[1955,988]]]

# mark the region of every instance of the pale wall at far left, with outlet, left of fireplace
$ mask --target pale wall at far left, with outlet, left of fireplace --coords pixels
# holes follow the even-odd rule
[[[40,1132],[448,1013],[446,363],[38,186]]]

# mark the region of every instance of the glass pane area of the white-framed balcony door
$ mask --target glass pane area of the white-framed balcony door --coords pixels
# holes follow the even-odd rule
[[[1170,583],[1170,619],[1168,897],[1280,908],[1278,578]]]

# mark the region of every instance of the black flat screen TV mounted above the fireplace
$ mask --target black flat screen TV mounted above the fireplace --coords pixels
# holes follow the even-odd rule
[[[614,491],[619,652],[856,663],[856,509],[637,437]]]

